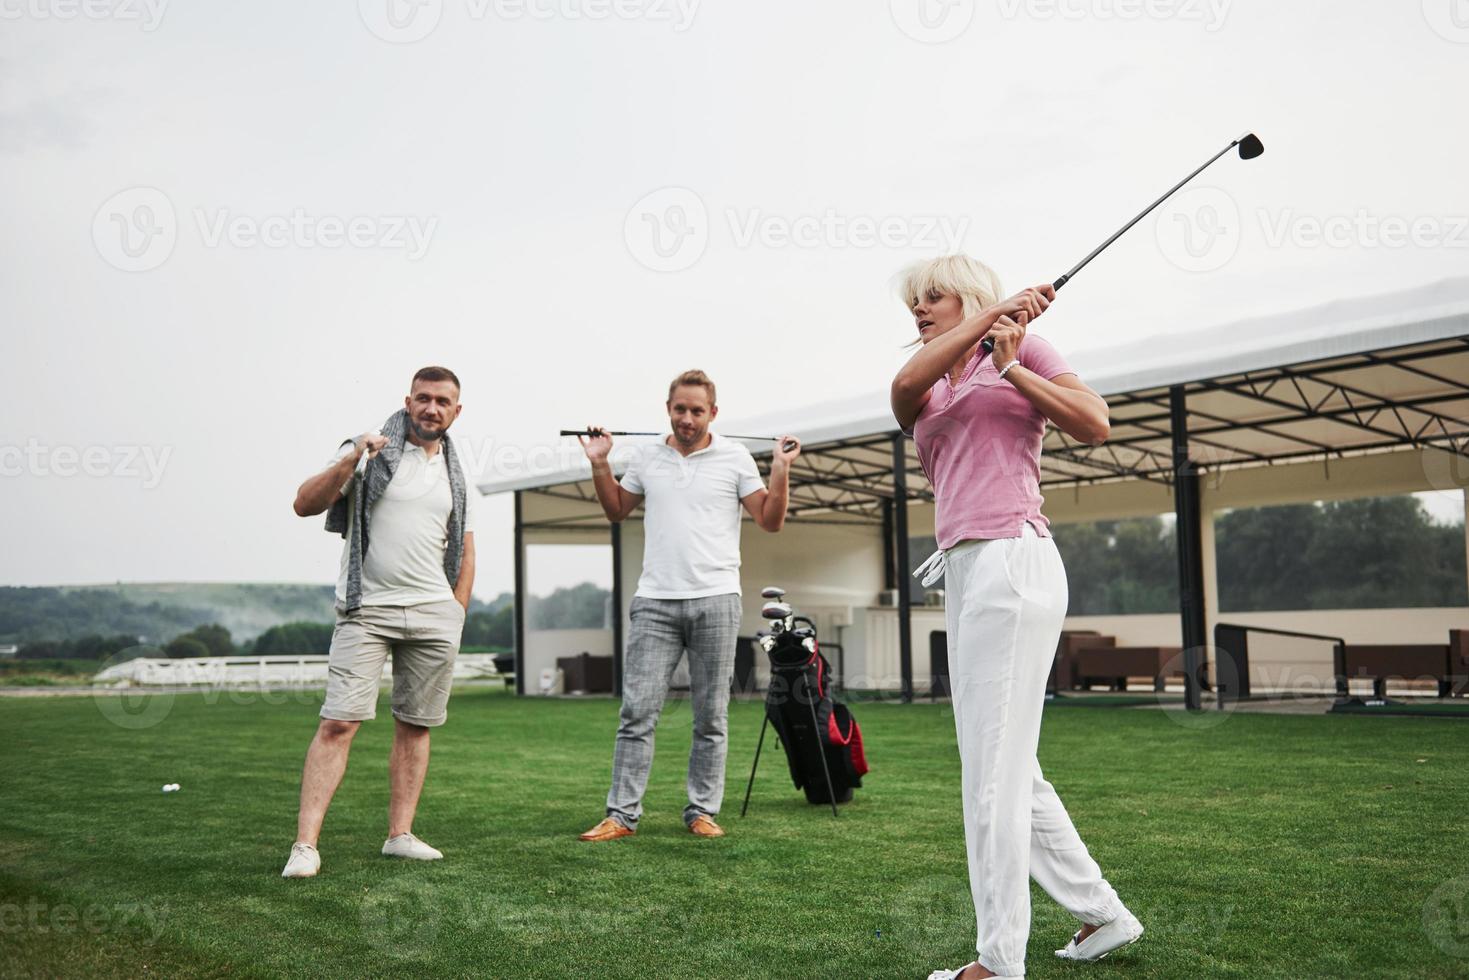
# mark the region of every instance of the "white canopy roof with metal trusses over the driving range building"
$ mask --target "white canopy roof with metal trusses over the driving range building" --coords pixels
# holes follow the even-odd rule
[[[1398,354],[1384,357],[1388,351]],[[1174,385],[1188,385],[1190,433],[1209,433],[1200,444],[1216,460],[1368,451],[1391,439],[1412,444],[1419,438],[1448,438],[1457,448],[1456,436],[1469,436],[1469,278],[1068,353],[1066,360],[1108,397],[1114,438],[1106,447],[1109,460],[1090,461],[1090,448],[1077,453],[1052,430],[1046,454],[1055,466],[1047,466],[1043,482],[1130,479],[1165,469],[1156,461],[1166,454],[1159,451],[1166,447],[1166,423],[1159,430],[1156,422]],[[1278,370],[1294,366],[1309,369]],[[1349,372],[1350,383],[1343,381]],[[1278,382],[1288,382],[1291,392],[1271,394]],[[1384,410],[1394,410],[1400,425],[1384,428],[1376,420]],[[823,444],[893,433],[896,423],[883,386],[723,428],[793,432],[809,454]],[[865,453],[871,463],[881,458],[880,448]],[[589,478],[591,467],[579,460],[579,466],[489,480],[480,491],[502,494]]]

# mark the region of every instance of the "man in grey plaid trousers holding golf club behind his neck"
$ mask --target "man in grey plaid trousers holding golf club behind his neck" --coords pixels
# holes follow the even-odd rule
[[[743,507],[764,530],[780,530],[790,461],[801,454],[793,436],[776,439],[765,489],[749,450],[710,432],[718,406],[714,382],[701,370],[674,378],[667,410],[673,433],[639,447],[621,482],[607,460],[613,448],[607,430],[591,426],[592,435],[579,436],[607,519],[621,522],[645,505],[643,570],[629,608],[613,786],[605,818],[582,840],[616,840],[638,832],[652,770],[654,727],[685,649],[693,748],[683,823],[701,837],[724,836],[714,817],[724,798],[730,679],[740,623],[739,511]]]

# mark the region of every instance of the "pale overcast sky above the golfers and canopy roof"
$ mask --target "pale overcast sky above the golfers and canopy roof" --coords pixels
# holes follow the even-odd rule
[[[726,430],[881,389],[905,263],[1050,281],[1246,129],[1036,329],[1462,275],[1466,6],[0,0],[0,582],[332,580],[294,489],[427,363],[479,479],[686,367]]]

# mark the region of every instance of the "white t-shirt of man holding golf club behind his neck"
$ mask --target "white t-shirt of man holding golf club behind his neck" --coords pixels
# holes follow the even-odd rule
[[[639,447],[621,485],[645,497],[639,597],[739,595],[740,501],[765,488],[749,450],[717,435],[689,455]]]

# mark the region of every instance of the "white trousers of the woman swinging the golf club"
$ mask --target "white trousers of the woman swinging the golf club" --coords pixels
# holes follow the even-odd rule
[[[1036,760],[1066,570],[1030,523],[1019,538],[961,542],[940,567],[978,961],[1022,976],[1031,877],[1083,923],[1124,911]]]

